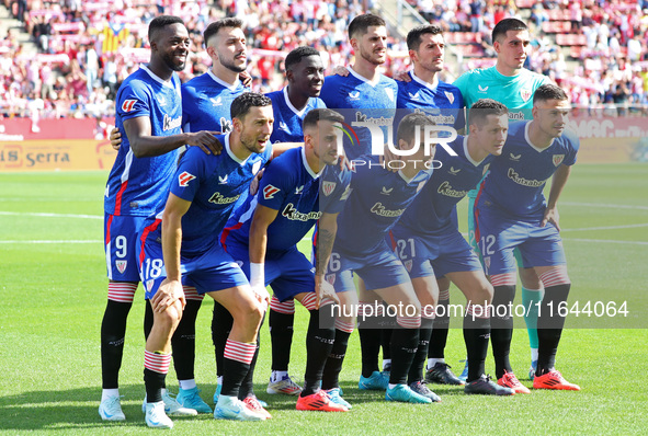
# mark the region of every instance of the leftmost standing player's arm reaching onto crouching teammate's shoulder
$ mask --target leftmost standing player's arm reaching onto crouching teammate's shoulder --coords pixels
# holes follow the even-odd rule
[[[184,145],[200,147],[207,154],[212,152],[219,154],[223,149],[214,133],[206,130],[171,136],[152,136],[148,116],[126,119],[124,122],[124,131],[136,158],[161,156]]]

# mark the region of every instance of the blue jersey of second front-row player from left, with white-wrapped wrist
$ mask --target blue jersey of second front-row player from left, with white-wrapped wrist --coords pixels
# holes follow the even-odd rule
[[[340,165],[326,165],[312,172],[303,147],[291,149],[265,169],[259,193],[237,208],[224,231],[225,243],[232,240],[249,244],[250,223],[257,205],[278,214],[268,228],[269,253],[294,248],[312,228],[322,213],[342,210],[351,171]]]

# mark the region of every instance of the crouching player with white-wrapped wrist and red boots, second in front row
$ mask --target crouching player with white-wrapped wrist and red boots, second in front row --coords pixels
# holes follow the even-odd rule
[[[330,307],[329,313],[322,307],[332,302],[330,299],[338,301],[333,288],[323,280],[323,269],[351,179],[351,172],[338,164],[343,121],[331,110],[308,112],[304,118],[304,147],[288,150],[272,161],[263,174],[259,194],[237,210],[221,237],[227,252],[243,263],[252,286],[270,285],[276,303],[296,299],[310,312],[305,385],[304,390],[299,389],[297,410],[349,410],[338,403],[343,401],[339,397],[329,398],[320,390],[334,337]],[[297,242],[318,220],[320,233],[330,234],[330,242],[321,246],[326,245],[326,238],[319,239],[319,255],[323,260],[314,275],[312,264],[297,250]],[[327,288],[332,295],[323,292]],[[322,297],[329,299],[320,302]],[[275,346],[278,344],[273,342],[273,354]]]

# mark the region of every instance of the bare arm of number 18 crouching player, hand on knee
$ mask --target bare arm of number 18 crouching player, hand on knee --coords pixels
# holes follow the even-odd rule
[[[164,268],[167,278],[160,285],[160,288],[151,299],[151,307],[155,312],[163,312],[180,300],[182,308],[186,303],[182,283],[180,282],[180,248],[182,245],[182,217],[189,210],[191,202],[180,198],[173,193],[169,194],[169,199],[164,206],[162,217],[162,255],[164,257]]]

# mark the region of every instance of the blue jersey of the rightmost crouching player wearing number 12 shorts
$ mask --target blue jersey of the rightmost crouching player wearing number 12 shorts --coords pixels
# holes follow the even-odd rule
[[[576,163],[578,137],[565,131],[545,149],[528,140],[531,122],[512,123],[502,154],[494,158],[477,195],[477,205],[494,206],[521,219],[536,219],[544,214],[543,188],[558,167]]]

